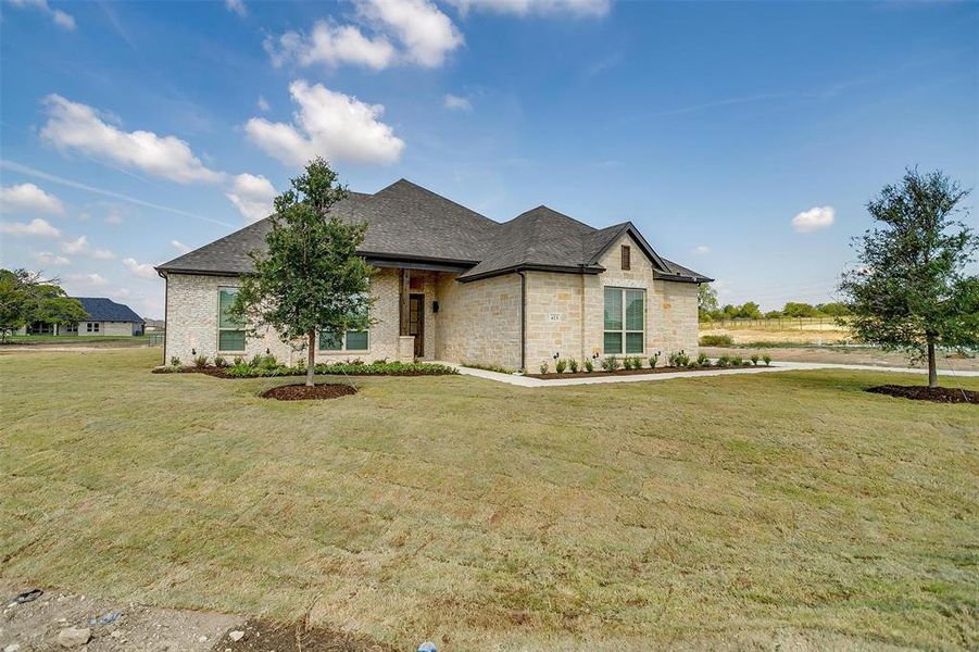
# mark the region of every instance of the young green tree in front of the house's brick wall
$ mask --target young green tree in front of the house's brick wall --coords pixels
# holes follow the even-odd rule
[[[347,188],[323,159],[311,161],[292,179],[292,189],[275,198],[267,251],[252,251],[254,273],[242,278],[233,317],[256,335],[278,331],[297,350],[307,348],[306,385],[313,385],[316,334],[341,338],[371,324],[368,296],[373,267],[356,250],[365,223],[346,223],[330,209]]]

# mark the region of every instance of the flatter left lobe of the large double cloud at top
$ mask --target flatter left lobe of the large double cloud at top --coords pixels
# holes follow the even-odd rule
[[[324,64],[331,67],[349,63],[382,70],[394,62],[394,46],[384,36],[369,38],[353,25],[318,21],[309,36],[287,32],[276,41],[265,39],[265,51],[276,67],[294,60],[301,66]]]

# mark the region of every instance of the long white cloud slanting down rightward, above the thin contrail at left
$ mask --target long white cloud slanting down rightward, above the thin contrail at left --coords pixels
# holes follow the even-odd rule
[[[190,146],[175,136],[123,131],[104,122],[91,106],[59,95],[49,95],[43,103],[48,122],[41,128],[41,138],[61,150],[77,150],[180,184],[224,178],[204,166]]]

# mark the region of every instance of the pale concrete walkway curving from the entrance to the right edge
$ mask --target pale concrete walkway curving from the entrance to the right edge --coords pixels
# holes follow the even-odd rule
[[[540,378],[531,378],[529,376],[520,376],[518,374],[501,374],[499,372],[487,372],[485,369],[474,369],[451,363],[449,364],[459,369],[460,374],[465,376],[475,376],[487,380],[495,380],[498,383],[506,383],[517,387],[567,387],[569,385],[600,385],[603,383],[648,383],[652,380],[673,380],[676,378],[702,378],[704,376],[736,376],[741,374],[776,374],[778,372],[800,372],[811,369],[848,369],[858,372],[878,372],[878,373],[900,373],[900,374],[917,374],[927,376],[925,369],[913,369],[908,367],[882,367],[869,364],[833,364],[819,362],[778,362],[771,366],[753,366],[736,369],[718,369],[712,368],[706,372],[670,372],[666,374],[636,374],[632,376],[610,376],[604,372],[594,372],[585,377],[561,378],[554,380],[542,380]],[[979,372],[941,372],[940,377],[979,377]]]

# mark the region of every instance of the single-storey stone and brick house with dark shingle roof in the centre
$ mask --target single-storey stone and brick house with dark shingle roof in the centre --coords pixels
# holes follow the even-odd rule
[[[317,361],[443,360],[534,368],[553,358],[696,354],[698,285],[710,278],[658,255],[629,222],[595,229],[547,206],[500,224],[401,179],[332,209],[367,221],[369,331],[319,337]],[[156,267],[166,279],[164,359],[304,354],[277,334],[229,319],[248,252],[268,218]]]

